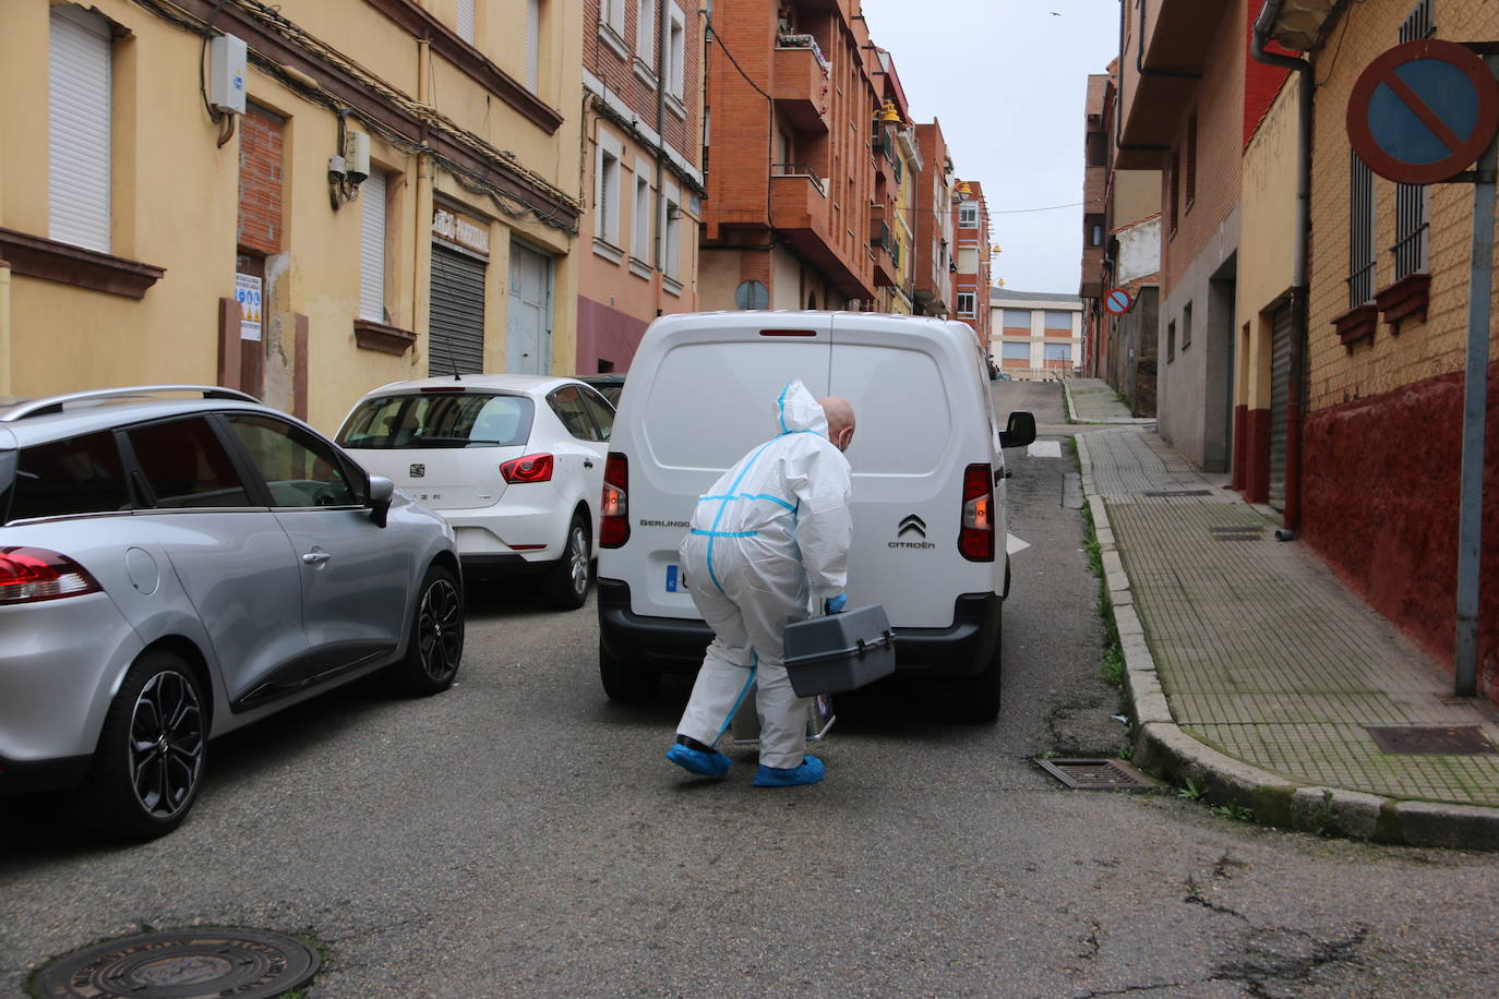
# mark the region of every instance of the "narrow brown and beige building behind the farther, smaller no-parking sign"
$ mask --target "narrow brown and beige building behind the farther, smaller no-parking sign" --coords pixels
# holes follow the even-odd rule
[[[1118,60],[1088,76],[1084,138],[1082,368],[1105,379],[1136,416],[1156,415],[1160,291],[1160,171],[1117,165]],[[1115,288],[1129,312],[1103,309]]]

